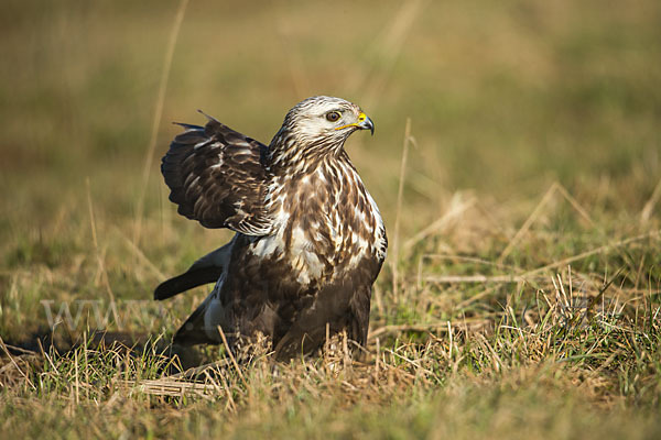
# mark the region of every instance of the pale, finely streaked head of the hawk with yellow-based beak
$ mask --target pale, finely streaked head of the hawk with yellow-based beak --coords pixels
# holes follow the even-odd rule
[[[316,96],[299,102],[286,113],[270,150],[288,162],[323,157],[337,154],[357,130],[375,132],[373,122],[360,107],[340,98]]]

